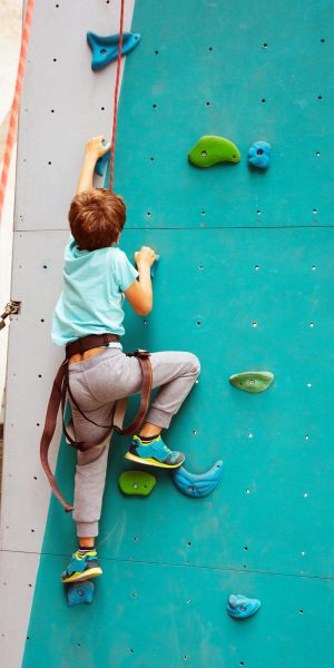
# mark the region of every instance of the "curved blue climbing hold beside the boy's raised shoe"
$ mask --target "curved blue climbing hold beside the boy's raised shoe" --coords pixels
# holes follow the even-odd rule
[[[207,497],[216,489],[223,473],[223,461],[218,460],[206,473],[189,473],[179,466],[171,473],[173,482],[187,497]]]

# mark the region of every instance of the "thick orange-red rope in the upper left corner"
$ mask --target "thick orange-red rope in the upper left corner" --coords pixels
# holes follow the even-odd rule
[[[21,51],[20,51],[18,75],[17,75],[17,81],[16,81],[16,90],[14,90],[14,96],[13,96],[13,100],[12,100],[12,105],[11,105],[11,109],[10,109],[9,127],[8,127],[8,132],[7,132],[7,137],[6,137],[3,166],[2,166],[2,174],[1,174],[1,181],[0,181],[0,223],[1,223],[1,214],[3,210],[3,203],[4,203],[4,195],[6,195],[6,188],[7,188],[7,183],[8,183],[8,174],[9,174],[9,167],[10,167],[11,154],[12,154],[13,145],[16,143],[16,136],[17,136],[18,115],[19,115],[19,107],[20,107],[20,101],[21,101],[21,92],[22,92],[22,84],[23,84],[24,68],[26,68],[27,53],[28,53],[30,28],[31,28],[31,21],[32,21],[33,3],[35,3],[35,0],[27,0],[27,11],[26,11],[26,17],[24,17],[24,26],[23,26],[22,39],[21,39]]]

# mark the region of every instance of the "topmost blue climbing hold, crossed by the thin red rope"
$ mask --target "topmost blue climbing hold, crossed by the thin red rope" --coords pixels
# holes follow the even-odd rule
[[[139,32],[124,32],[121,55],[126,56],[139,45],[141,35]],[[91,48],[91,69],[100,70],[118,57],[119,35],[100,37],[95,32],[87,32],[87,41]]]

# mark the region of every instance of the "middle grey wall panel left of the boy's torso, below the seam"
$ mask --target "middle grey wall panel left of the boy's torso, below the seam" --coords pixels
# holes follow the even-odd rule
[[[8,550],[39,551],[45,531],[49,485],[40,468],[39,440],[63,356],[51,342],[50,326],[67,236],[16,233],[12,297],[21,302],[21,313],[11,322],[9,341],[2,499],[2,548]]]

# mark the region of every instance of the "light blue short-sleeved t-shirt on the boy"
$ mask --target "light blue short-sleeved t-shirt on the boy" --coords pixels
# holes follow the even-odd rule
[[[138,272],[117,246],[79,250],[70,236],[65,249],[63,289],[58,299],[51,337],[67,345],[88,334],[125,333],[124,292]],[[110,344],[121,347],[120,343]]]

